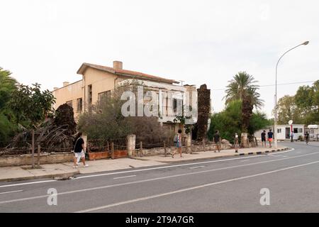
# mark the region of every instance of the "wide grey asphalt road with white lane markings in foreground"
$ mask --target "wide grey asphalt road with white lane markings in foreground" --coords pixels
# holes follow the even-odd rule
[[[293,150],[1,183],[0,212],[319,212],[319,143],[284,145]]]

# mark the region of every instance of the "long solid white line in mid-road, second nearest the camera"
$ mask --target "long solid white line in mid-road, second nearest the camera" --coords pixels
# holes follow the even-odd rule
[[[278,162],[280,160],[287,160],[287,159],[292,159],[292,158],[296,158],[296,157],[315,155],[315,154],[318,154],[318,153],[319,152],[310,153],[310,154],[306,154],[306,155],[293,156],[293,157],[285,157],[285,158],[276,159],[276,160],[268,160],[268,161],[263,161],[263,162],[254,162],[254,163],[245,164],[245,165],[235,165],[235,166],[231,166],[231,167],[222,167],[222,168],[213,169],[213,170],[203,170],[203,171],[198,171],[198,172],[189,172],[189,173],[184,173],[184,174],[179,174],[179,175],[171,175],[171,176],[167,176],[167,177],[157,177],[157,178],[153,178],[153,179],[142,179],[142,180],[135,181],[135,182],[125,182],[125,183],[121,183],[121,184],[111,184],[111,185],[106,185],[106,186],[101,186],[101,187],[93,187],[93,188],[87,188],[87,189],[78,189],[78,190],[69,191],[69,192],[61,192],[61,193],[59,193],[59,195],[72,194],[72,193],[78,193],[78,192],[89,192],[89,191],[93,191],[93,190],[106,189],[106,188],[110,188],[110,187],[119,187],[119,186],[130,185],[130,184],[152,182],[152,181],[157,181],[157,180],[160,180],[160,179],[169,179],[169,178],[174,178],[174,177],[182,177],[182,176],[186,176],[186,175],[196,175],[196,174],[200,174],[200,173],[214,172],[214,171],[218,171],[218,170],[228,170],[228,169],[233,169],[233,168],[237,168],[237,167],[258,165],[258,164],[267,163],[267,162]],[[47,196],[49,196],[49,195],[26,197],[26,198],[22,198],[22,199],[12,199],[12,200],[8,200],[8,201],[0,201],[0,204],[8,204],[8,203],[16,202],[16,201],[26,201],[26,200],[32,200],[32,199],[42,199],[42,198],[45,198]]]

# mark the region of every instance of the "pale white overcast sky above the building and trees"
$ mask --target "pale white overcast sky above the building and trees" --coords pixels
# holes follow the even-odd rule
[[[319,2],[281,1],[0,1],[0,67],[44,89],[81,79],[82,62],[123,68],[184,84],[207,84],[214,111],[239,71],[259,85],[319,79]],[[299,86],[279,86],[279,97]],[[217,89],[217,90],[214,90]],[[271,117],[274,87],[261,87]]]

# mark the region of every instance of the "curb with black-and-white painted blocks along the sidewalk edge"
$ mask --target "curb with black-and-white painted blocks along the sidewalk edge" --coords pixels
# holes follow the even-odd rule
[[[282,150],[290,150],[291,148],[281,148],[281,149],[277,149],[277,150],[264,150],[264,151],[255,151],[255,152],[250,152],[250,153],[234,153],[234,154],[230,154],[230,155],[222,155],[222,156],[218,156],[218,157],[201,157],[201,158],[196,158],[193,160],[172,160],[172,161],[157,161],[157,162],[162,162],[165,164],[172,164],[172,163],[178,163],[178,162],[191,162],[191,161],[200,161],[200,160],[208,160],[208,159],[216,159],[216,158],[220,158],[220,157],[236,157],[236,156],[247,156],[247,155],[265,155],[268,153],[276,153]],[[147,159],[142,159],[141,157],[130,157],[132,159],[136,159],[136,160],[142,160],[142,161],[148,161]]]

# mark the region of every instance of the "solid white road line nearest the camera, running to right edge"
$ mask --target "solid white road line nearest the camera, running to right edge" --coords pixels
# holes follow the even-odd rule
[[[313,164],[318,163],[318,162],[319,161],[308,162],[306,164],[294,165],[294,166],[282,168],[282,169],[279,169],[279,170],[272,170],[272,171],[268,171],[268,172],[262,172],[262,173],[258,173],[256,175],[249,175],[249,176],[245,176],[245,177],[237,177],[237,178],[232,178],[232,179],[226,179],[226,180],[223,180],[223,181],[220,181],[220,182],[213,182],[213,183],[209,183],[209,184],[201,184],[201,185],[198,185],[196,187],[189,187],[189,188],[186,188],[186,189],[180,189],[180,190],[176,190],[176,191],[172,191],[172,192],[166,192],[166,193],[162,193],[162,194],[155,194],[153,196],[145,196],[145,197],[141,197],[141,198],[138,198],[138,199],[131,199],[131,200],[128,200],[128,201],[121,201],[121,202],[118,202],[116,204],[108,204],[106,206],[94,207],[94,208],[91,208],[91,209],[85,209],[85,210],[82,210],[82,211],[77,211],[75,213],[86,213],[86,212],[91,212],[91,211],[98,211],[98,210],[101,210],[101,209],[107,209],[107,208],[110,208],[110,207],[113,207],[113,206],[120,206],[120,205],[123,205],[123,204],[132,204],[132,203],[135,203],[135,202],[138,202],[138,201],[144,201],[144,200],[147,200],[147,199],[154,199],[154,198],[158,198],[158,197],[162,197],[162,196],[168,196],[168,195],[171,195],[171,194],[177,194],[177,193],[181,193],[181,192],[187,192],[187,191],[191,191],[191,190],[201,189],[203,187],[209,187],[209,186],[213,186],[213,185],[216,185],[216,184],[225,184],[225,183],[228,183],[228,182],[235,182],[235,181],[241,180],[241,179],[249,179],[249,178],[252,178],[252,177],[259,177],[259,176],[262,176],[262,175],[269,175],[269,174],[272,174],[272,173],[275,173],[275,172],[291,170],[291,169],[298,168],[298,167],[303,167],[303,166],[306,166],[306,165],[313,165]]]

